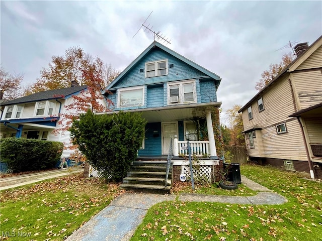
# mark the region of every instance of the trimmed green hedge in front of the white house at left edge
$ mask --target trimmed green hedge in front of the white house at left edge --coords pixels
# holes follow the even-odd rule
[[[6,162],[13,172],[54,168],[62,151],[60,142],[25,138],[5,138],[0,142],[1,162]]]

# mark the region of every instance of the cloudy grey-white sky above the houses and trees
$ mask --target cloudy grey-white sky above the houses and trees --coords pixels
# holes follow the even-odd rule
[[[40,77],[53,55],[79,46],[122,71],[152,41],[146,24],[171,39],[168,48],[222,78],[225,110],[244,105],[289,41],[312,44],[322,35],[321,1],[1,1],[1,64]],[[163,42],[161,42],[163,43]]]

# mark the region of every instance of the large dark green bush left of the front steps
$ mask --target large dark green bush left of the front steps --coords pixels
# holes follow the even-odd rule
[[[140,113],[95,115],[89,110],[69,131],[79,151],[104,177],[120,181],[137,157],[145,125]]]

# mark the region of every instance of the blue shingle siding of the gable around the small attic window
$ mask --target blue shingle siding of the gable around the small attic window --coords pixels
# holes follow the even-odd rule
[[[145,78],[145,63],[163,59],[168,59],[168,75]],[[170,64],[173,64],[174,67],[169,68]],[[140,73],[140,69],[143,69],[144,71]],[[134,65],[133,68],[124,75],[123,79],[119,80],[113,86],[113,89],[193,79],[204,76],[207,75],[179,60],[175,56],[172,56],[159,48],[155,48]]]

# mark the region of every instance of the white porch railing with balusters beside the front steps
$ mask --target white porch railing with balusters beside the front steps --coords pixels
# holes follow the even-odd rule
[[[190,141],[191,153],[198,157],[210,157],[209,142]],[[174,156],[186,155],[188,156],[188,146],[185,141],[178,141],[174,139]]]

